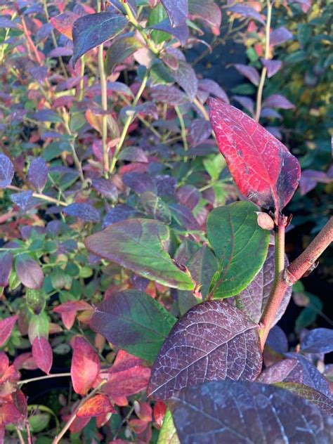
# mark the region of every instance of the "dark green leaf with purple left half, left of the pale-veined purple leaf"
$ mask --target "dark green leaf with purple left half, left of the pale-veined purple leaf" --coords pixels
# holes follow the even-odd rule
[[[125,290],[100,303],[90,325],[115,346],[153,363],[175,323],[148,294]]]

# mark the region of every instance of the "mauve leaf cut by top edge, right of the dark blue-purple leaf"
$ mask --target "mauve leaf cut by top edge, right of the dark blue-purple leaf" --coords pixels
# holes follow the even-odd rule
[[[222,13],[213,0],[189,0],[188,12],[192,19],[202,20],[209,25],[213,34],[220,34]]]

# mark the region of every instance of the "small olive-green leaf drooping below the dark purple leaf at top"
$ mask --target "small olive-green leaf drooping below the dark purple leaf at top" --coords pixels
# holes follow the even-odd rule
[[[105,70],[107,75],[112,74],[117,65],[124,62],[140,48],[143,48],[143,44],[136,37],[122,36],[114,41],[106,53]]]

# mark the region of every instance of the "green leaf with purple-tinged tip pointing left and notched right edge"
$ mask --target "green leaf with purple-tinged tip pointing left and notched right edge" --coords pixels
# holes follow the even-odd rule
[[[162,285],[193,289],[190,273],[180,270],[164,249],[169,240],[168,226],[151,219],[117,222],[86,241],[90,252]]]

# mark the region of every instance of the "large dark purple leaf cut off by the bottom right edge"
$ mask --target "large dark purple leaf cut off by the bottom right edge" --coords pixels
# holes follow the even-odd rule
[[[170,408],[182,444],[332,441],[329,414],[280,387],[214,381],[177,393]]]

